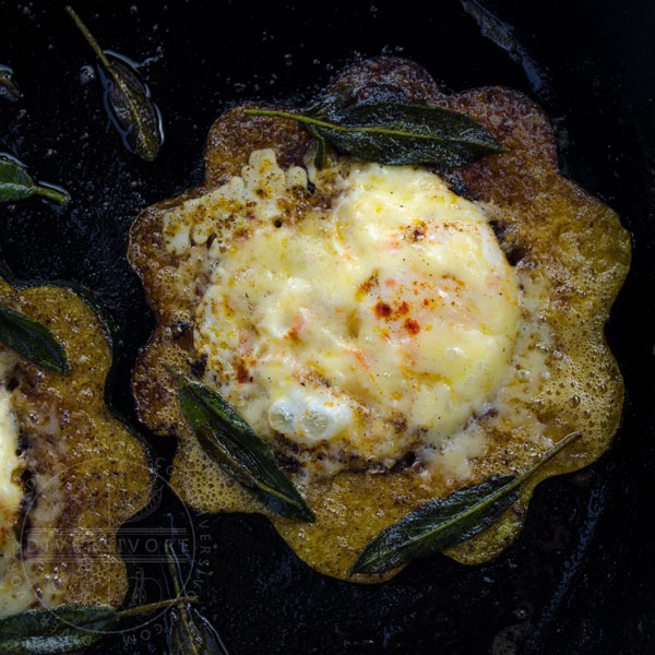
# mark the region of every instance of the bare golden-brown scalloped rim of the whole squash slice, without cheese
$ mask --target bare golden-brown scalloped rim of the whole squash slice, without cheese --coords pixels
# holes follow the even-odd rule
[[[486,454],[471,463],[467,484],[522,471],[534,462],[539,454],[533,429],[537,422],[551,442],[575,430],[583,438],[541,467],[497,524],[448,551],[460,562],[484,562],[520,533],[539,481],[591,464],[610,445],[621,416],[623,384],[604,325],[630,265],[630,239],[608,206],[559,174],[550,123],[524,95],[502,87],[446,95],[424,69],[395,58],[358,63],[329,91],[344,86],[355,88],[359,102],[393,99],[467,114],[509,148],[449,179],[458,193],[483,203],[491,214],[501,248],[522,283],[548,289],[541,307],[525,314],[526,321],[547,330],[550,342],[546,347],[534,341],[525,348],[543,348],[549,377],[532,389],[515,381],[512,393],[508,392],[512,412],[525,417],[522,422],[508,420],[502,413],[474,417],[485,433]],[[157,319],[134,371],[138,412],[154,432],[179,439],[172,485],[200,511],[265,513],[202,452],[165,371],[167,365],[187,372],[194,362],[202,368],[193,347],[193,321],[207,282],[202,276],[180,279],[182,255],[167,252],[164,219],[186,200],[239,175],[252,151],[273,148],[286,168],[301,166],[310,145],[310,136],[291,120],[248,117],[241,108],[231,109],[210,131],[203,183],[144,210],[132,226],[129,259]],[[191,250],[198,254],[201,248]],[[340,579],[345,579],[357,553],[381,529],[462,486],[448,476],[426,481],[412,468],[384,475],[344,472],[311,483],[297,476],[294,481],[315,511],[317,523],[271,519],[301,559]],[[361,575],[357,581],[379,582],[394,573]]]

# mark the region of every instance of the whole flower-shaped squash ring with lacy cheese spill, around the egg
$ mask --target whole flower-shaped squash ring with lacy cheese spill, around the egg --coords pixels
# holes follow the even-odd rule
[[[243,179],[252,177],[258,164],[251,158],[253,152],[259,152],[260,164],[262,156],[267,158],[273,178],[286,175],[287,194],[276,210],[269,205],[266,221],[301,226],[309,213],[330,211],[337,196],[327,182],[305,180],[299,191],[289,189],[291,177],[303,179],[299,168],[310,180],[318,176],[311,164],[315,145],[307,131],[293,120],[246,116],[237,107],[218,118],[210,131],[204,181],[144,210],[131,229],[129,260],[157,320],[134,371],[138,412],[155,433],[179,439],[171,483],[187,503],[203,512],[267,513],[302,560],[338,579],[346,579],[353,561],[376,535],[409,512],[492,476],[524,472],[549,445],[582,432],[582,438],[526,480],[500,520],[445,550],[463,563],[484,562],[516,537],[539,481],[591,464],[610,445],[621,416],[623,385],[604,325],[629,269],[630,239],[615,212],[559,174],[550,123],[524,95],[502,87],[446,95],[424,69],[395,58],[354,66],[326,93],[338,90],[347,90],[356,103],[391,99],[463,112],[509,148],[446,176],[451,189],[487,214],[517,279],[521,326],[509,379],[490,404],[472,412],[458,431],[434,446],[431,467],[412,451],[386,467],[370,466],[366,458],[362,462],[357,453],[349,453],[353,456],[346,458],[352,466],[346,463],[334,475],[312,476],[306,464],[319,451],[289,445],[274,429],[260,433],[315,512],[315,523],[275,515],[236,485],[200,446],[181,413],[177,383],[168,373],[175,369],[218,388],[216,381],[228,368],[227,360],[213,364],[212,353],[207,358],[196,343],[199,308],[216,269],[242,252],[253,238],[252,229],[264,224],[258,222],[257,212],[262,210],[254,196],[239,206],[218,206],[219,202],[227,202],[230,183],[242,189]],[[336,177],[343,170],[340,166],[348,164],[347,157],[334,153],[329,159]],[[262,188],[260,198],[264,196]],[[291,236],[288,248],[294,243]],[[206,311],[206,302],[204,307]],[[222,315],[228,310],[219,309]],[[217,335],[219,340],[219,330]],[[529,361],[537,359],[540,364],[535,371],[540,374],[529,374]],[[243,384],[254,374],[246,365],[239,373],[238,366],[230,364]],[[261,398],[237,394],[227,400],[237,410],[249,413]],[[461,457],[462,469],[452,473],[449,456],[458,449],[462,434],[473,433],[476,446]],[[379,582],[397,570],[358,574],[353,580]]]

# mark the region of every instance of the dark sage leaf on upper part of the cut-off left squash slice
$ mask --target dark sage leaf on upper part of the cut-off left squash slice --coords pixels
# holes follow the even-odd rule
[[[0,342],[38,366],[69,374],[71,366],[61,342],[38,321],[0,303]]]

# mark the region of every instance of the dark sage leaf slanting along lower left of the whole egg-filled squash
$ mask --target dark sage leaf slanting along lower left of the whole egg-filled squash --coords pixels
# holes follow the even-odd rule
[[[203,450],[260,502],[298,521],[315,516],[275,461],[269,444],[217,393],[169,371],[179,382],[182,412]]]

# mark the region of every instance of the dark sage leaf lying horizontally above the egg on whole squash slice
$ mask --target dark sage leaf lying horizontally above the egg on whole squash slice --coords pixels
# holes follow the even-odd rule
[[[290,118],[319,140],[317,166],[325,141],[337,151],[366,162],[390,166],[434,164],[456,168],[480,157],[507,152],[475,120],[441,107],[401,103],[361,103],[321,106],[323,114],[294,114],[273,109],[245,109],[248,116]]]

